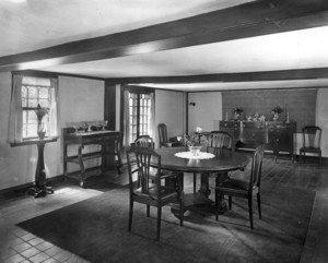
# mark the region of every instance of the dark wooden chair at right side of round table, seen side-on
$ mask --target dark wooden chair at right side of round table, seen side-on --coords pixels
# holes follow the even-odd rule
[[[261,195],[260,195],[260,182],[262,159],[265,155],[265,144],[257,146],[251,162],[251,170],[249,179],[238,180],[229,178],[227,180],[218,183],[215,187],[215,219],[219,220],[219,201],[223,195],[229,195],[229,208],[232,208],[232,196],[244,198],[248,200],[249,223],[253,229],[253,196],[257,196],[257,205],[259,218],[261,219]]]

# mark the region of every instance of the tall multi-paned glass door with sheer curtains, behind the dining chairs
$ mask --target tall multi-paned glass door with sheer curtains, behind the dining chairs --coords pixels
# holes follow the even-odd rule
[[[153,134],[154,93],[151,89],[126,89],[124,93],[124,144],[134,142],[140,135]]]

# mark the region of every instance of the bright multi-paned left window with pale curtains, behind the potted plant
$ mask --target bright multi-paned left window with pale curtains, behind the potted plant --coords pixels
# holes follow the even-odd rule
[[[35,110],[46,115],[38,123]],[[58,135],[58,80],[13,74],[10,105],[9,142],[37,138],[38,125],[46,136]]]

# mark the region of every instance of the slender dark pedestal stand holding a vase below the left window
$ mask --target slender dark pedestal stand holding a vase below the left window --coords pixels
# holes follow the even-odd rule
[[[37,146],[37,163],[35,170],[35,186],[28,189],[28,194],[34,194],[35,198],[45,196],[48,193],[54,193],[54,189],[51,187],[46,186],[46,170],[45,170],[45,159],[44,159],[44,150],[46,143],[56,142],[58,136],[45,138],[43,140],[39,139],[30,139],[24,140],[20,143],[11,143],[12,147],[15,146],[24,146],[24,145],[36,145]]]

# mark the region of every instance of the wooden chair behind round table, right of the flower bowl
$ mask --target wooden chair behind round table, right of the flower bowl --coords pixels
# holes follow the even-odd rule
[[[225,131],[211,131],[208,135],[207,152],[212,153],[215,156],[222,156],[224,154],[232,155],[233,150],[233,138]],[[218,176],[216,176],[218,178]],[[197,172],[194,172],[194,192],[197,188]]]

